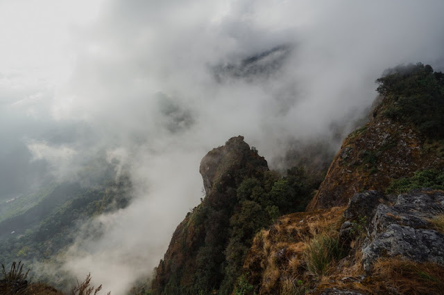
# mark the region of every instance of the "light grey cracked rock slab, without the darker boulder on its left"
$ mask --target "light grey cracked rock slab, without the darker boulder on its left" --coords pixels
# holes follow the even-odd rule
[[[380,257],[444,265],[444,234],[429,221],[444,213],[443,201],[443,193],[423,189],[398,195],[393,206],[377,205],[375,213],[368,215],[371,221],[362,250],[364,269],[370,271]],[[345,222],[343,227],[350,228],[350,224]]]

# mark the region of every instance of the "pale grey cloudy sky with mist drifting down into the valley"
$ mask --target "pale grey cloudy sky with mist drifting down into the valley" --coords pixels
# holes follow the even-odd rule
[[[98,152],[128,165],[135,202],[99,217],[103,238],[66,264],[121,294],[198,204],[208,150],[242,134],[273,166],[290,139],[328,138],[371,104],[384,69],[442,69],[443,11],[441,0],[0,0],[0,197],[42,175],[75,179]]]

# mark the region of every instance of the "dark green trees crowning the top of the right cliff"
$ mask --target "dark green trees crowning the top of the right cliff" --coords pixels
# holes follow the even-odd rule
[[[444,74],[418,63],[386,71],[377,91],[385,96],[382,114],[412,125],[426,138],[444,138]]]

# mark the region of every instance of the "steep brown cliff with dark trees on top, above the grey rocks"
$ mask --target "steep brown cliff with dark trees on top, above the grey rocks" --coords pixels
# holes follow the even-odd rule
[[[378,82],[382,101],[373,119],[345,139],[308,211],[345,206],[354,193],[384,191],[393,179],[444,168],[443,74],[417,64]]]

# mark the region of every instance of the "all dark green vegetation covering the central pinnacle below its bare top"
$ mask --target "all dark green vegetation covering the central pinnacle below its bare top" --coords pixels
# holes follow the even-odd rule
[[[175,251],[191,260],[187,263],[192,267],[176,262],[171,275],[153,282],[153,294],[250,294],[240,276],[255,233],[283,214],[303,211],[319,181],[302,168],[288,170],[284,177],[248,169],[232,172],[234,181],[224,178],[213,192],[218,197],[204,199],[180,224],[182,238],[176,240]],[[190,231],[191,241],[186,234]],[[162,261],[159,267],[164,265],[171,263]]]

